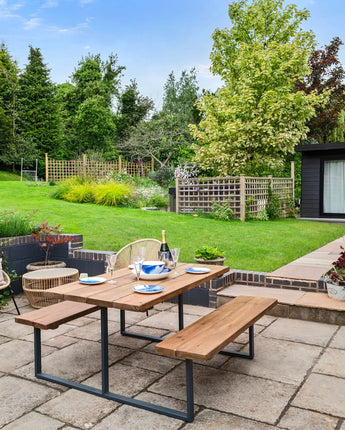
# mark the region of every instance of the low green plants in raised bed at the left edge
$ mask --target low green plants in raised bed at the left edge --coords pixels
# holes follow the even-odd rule
[[[0,237],[25,236],[33,229],[34,212],[22,215],[11,211],[0,212]]]

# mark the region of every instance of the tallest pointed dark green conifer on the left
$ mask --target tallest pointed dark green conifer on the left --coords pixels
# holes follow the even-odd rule
[[[32,141],[40,157],[59,151],[59,114],[55,86],[39,48],[30,46],[28,64],[19,77],[20,127],[22,137]]]

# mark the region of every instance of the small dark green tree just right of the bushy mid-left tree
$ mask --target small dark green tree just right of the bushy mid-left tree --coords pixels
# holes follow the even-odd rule
[[[153,100],[140,95],[137,82],[131,80],[118,99],[116,117],[118,139],[123,141],[128,138],[132,127],[135,127],[141,120],[147,119],[153,108]]]

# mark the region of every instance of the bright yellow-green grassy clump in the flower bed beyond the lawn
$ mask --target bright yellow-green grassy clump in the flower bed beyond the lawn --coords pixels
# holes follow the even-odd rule
[[[93,196],[95,203],[105,206],[123,206],[132,193],[132,187],[126,184],[109,182],[94,187]]]

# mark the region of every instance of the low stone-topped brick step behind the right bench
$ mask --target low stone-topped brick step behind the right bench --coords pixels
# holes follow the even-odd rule
[[[324,293],[233,284],[218,292],[217,306],[221,306],[237,296],[258,296],[277,299],[278,305],[269,312],[270,315],[326,324],[345,325],[345,302],[330,299]]]

